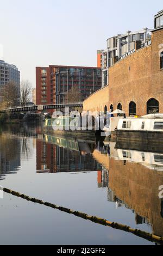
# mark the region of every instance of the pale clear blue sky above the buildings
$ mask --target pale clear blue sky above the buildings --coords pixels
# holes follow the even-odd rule
[[[1,59],[35,87],[35,66],[96,66],[107,38],[153,28],[161,9],[162,0],[0,0]]]

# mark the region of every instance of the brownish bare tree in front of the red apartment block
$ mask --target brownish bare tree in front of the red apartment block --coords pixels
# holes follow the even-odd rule
[[[65,103],[77,103],[82,100],[78,86],[72,87],[65,95]]]

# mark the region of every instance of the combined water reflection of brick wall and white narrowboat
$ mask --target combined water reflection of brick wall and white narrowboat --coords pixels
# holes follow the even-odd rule
[[[163,184],[163,151],[160,154],[160,148],[156,147],[154,152],[146,152],[125,149],[124,145],[118,148],[120,145],[114,142],[108,144],[110,154],[104,153],[103,149],[108,147],[106,143],[93,152],[93,156],[108,168],[108,176],[105,170],[98,173],[98,183],[100,180],[104,187],[108,183],[108,200],[115,202],[117,208],[133,209],[136,224],[151,224],[153,233],[162,236],[163,199],[159,198],[159,186]]]

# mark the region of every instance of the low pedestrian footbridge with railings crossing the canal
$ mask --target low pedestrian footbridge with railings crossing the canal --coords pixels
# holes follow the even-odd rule
[[[23,107],[9,107],[1,109],[1,113],[5,112],[28,112],[28,111],[48,111],[49,109],[61,109],[65,107],[76,108],[83,107],[83,102],[79,103],[67,103],[67,104],[50,104],[50,105],[34,105],[34,106],[23,106]]]

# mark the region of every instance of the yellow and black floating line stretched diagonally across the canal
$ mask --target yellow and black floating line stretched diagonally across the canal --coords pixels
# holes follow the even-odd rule
[[[62,206],[58,206],[58,205],[48,203],[48,202],[43,202],[40,199],[36,199],[36,198],[26,196],[25,194],[21,194],[21,193],[16,192],[16,191],[9,190],[8,188],[3,188],[3,191],[8,193],[8,194],[12,194],[13,196],[21,197],[21,198],[26,199],[27,201],[30,201],[30,202],[33,202],[33,203],[43,204],[43,205],[51,207],[53,209],[58,209],[59,211],[67,212],[68,214],[73,214],[73,215],[75,215],[77,217],[80,217],[80,218],[83,218],[85,220],[89,220],[89,221],[92,221],[92,222],[95,222],[95,223],[98,223],[98,224],[101,224],[101,225],[105,225],[105,226],[108,226],[108,227],[111,227],[111,228],[114,228],[114,229],[123,230],[123,231],[126,231],[128,233],[132,233],[136,236],[147,239],[149,241],[158,242],[158,243],[163,244],[163,237],[153,235],[151,233],[147,233],[146,231],[142,231],[140,229],[133,229],[133,228],[130,228],[129,226],[127,226],[127,225],[107,221],[104,218],[99,218],[99,217],[96,217],[96,216],[89,216],[87,214],[84,214],[83,212],[73,211],[71,209],[68,209],[68,208],[65,208],[65,207],[62,207]]]

